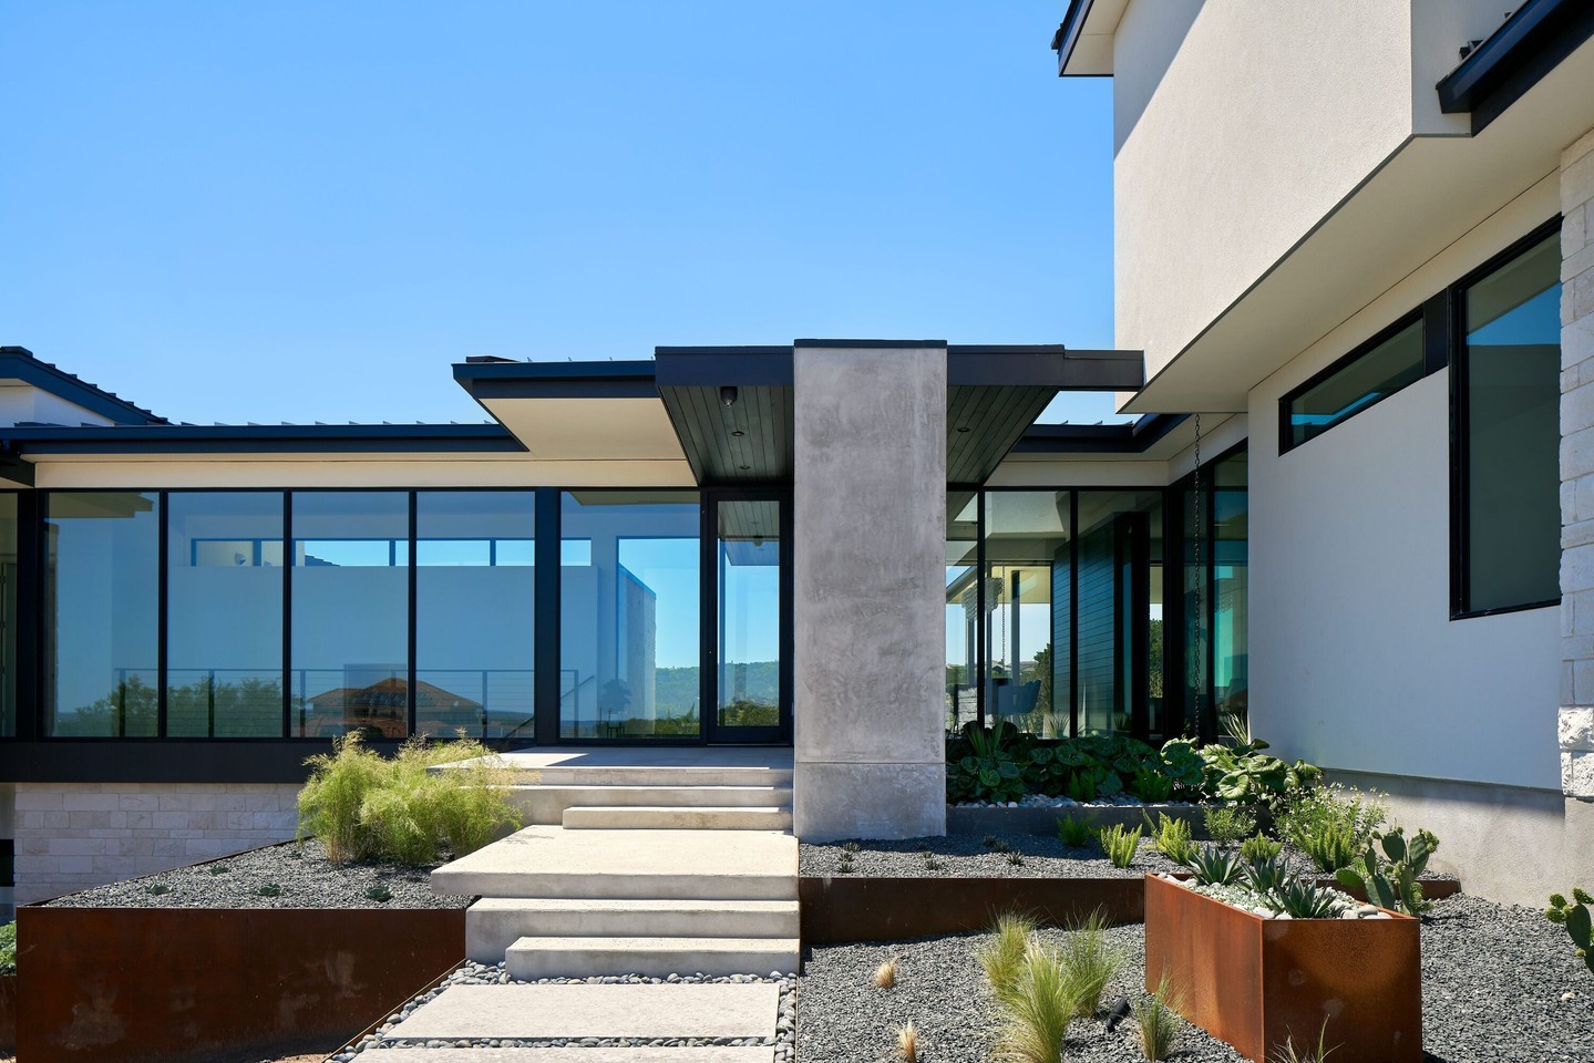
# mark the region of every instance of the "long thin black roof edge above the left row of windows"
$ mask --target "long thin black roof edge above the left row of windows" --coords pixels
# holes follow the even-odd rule
[[[0,427],[18,454],[523,453],[501,424],[151,424]]]

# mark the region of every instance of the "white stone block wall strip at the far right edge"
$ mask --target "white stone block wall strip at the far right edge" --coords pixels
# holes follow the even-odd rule
[[[1594,800],[1594,129],[1561,155],[1561,789]],[[1570,813],[1568,803],[1568,813]]]

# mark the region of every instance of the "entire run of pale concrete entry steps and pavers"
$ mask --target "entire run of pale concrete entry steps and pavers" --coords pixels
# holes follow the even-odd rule
[[[523,768],[512,797],[529,826],[432,873],[437,892],[480,897],[467,953],[502,966],[461,972],[338,1058],[789,1061],[795,1015],[791,1001],[781,1012],[781,990],[800,951],[789,754],[638,763],[650,752],[507,754]],[[481,980],[502,983],[469,983]]]

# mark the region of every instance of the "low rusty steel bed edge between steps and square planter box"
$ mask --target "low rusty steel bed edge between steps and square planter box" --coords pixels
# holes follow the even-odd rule
[[[1101,908],[1109,923],[1140,923],[1140,878],[867,878],[797,880],[802,943],[894,942],[990,929],[1019,908],[1042,926],[1071,926]]]

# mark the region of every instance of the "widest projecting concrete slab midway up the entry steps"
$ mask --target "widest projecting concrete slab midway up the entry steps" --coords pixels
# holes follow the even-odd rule
[[[432,872],[472,897],[795,900],[797,840],[773,830],[524,827]]]

